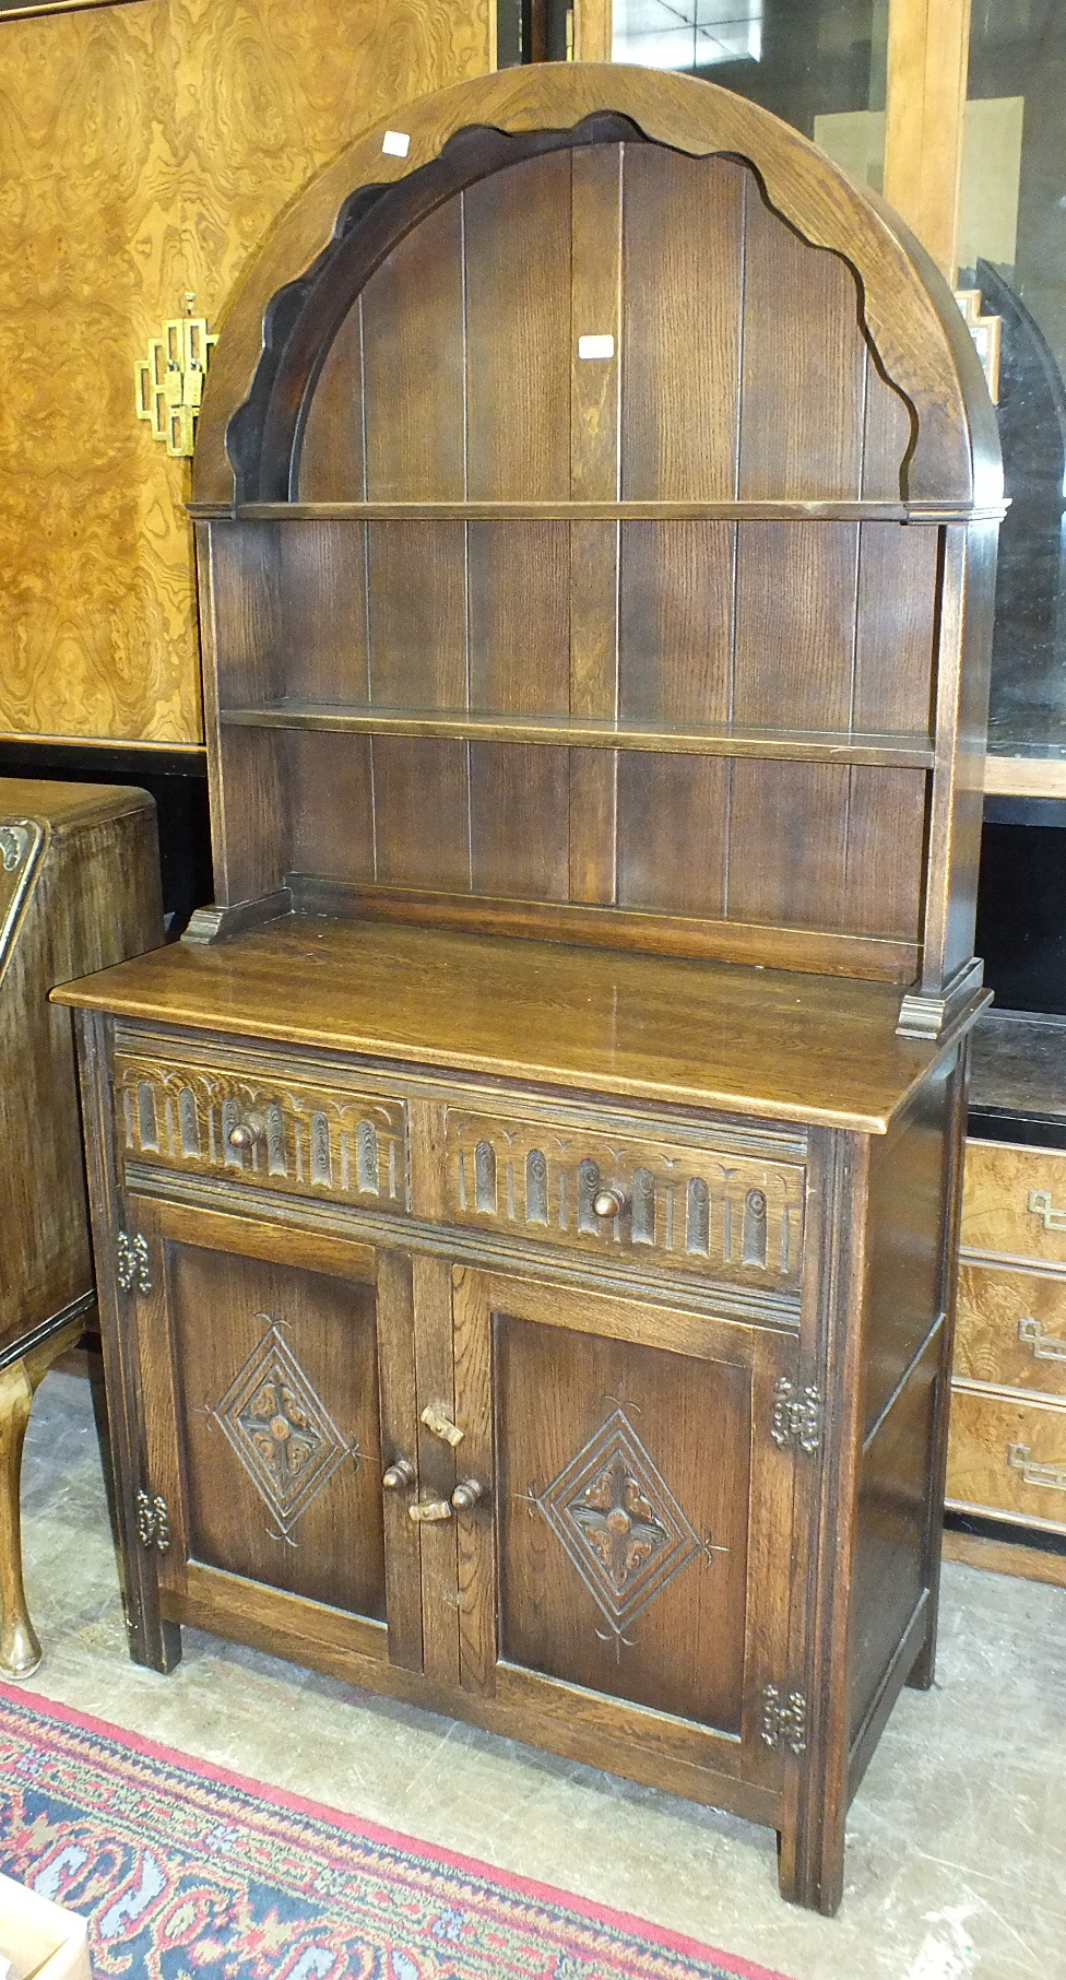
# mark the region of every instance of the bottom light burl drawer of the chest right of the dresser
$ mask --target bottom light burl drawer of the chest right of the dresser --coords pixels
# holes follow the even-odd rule
[[[947,1503],[1066,1533],[1066,1404],[955,1388]]]

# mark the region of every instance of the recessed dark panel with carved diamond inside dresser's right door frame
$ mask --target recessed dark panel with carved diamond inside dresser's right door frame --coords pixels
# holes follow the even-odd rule
[[[663,1354],[498,1313],[494,1366],[502,1657],[740,1732],[744,1358]]]

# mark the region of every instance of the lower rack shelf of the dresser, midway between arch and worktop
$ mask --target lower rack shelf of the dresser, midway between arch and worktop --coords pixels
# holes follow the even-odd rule
[[[848,735],[827,729],[752,729],[726,723],[684,727],[583,715],[483,715],[467,709],[390,709],[372,703],[297,699],[222,709],[220,721],[227,729],[324,729],[443,741],[554,742],[564,748],[635,748],[680,756],[777,756],[793,762],[856,762],[908,770],[926,770],[933,762],[933,742],[928,735]]]

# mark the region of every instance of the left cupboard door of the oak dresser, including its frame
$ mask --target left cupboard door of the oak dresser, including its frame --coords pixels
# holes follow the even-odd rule
[[[390,1602],[417,1596],[417,1534],[400,1517],[386,1546],[382,1493],[411,1420],[403,1342],[380,1354],[378,1338],[398,1261],[243,1216],[146,1198],[131,1212],[150,1279],[136,1325],[164,1610],[283,1655],[318,1641],[417,1669],[417,1602]],[[409,1299],[392,1309],[409,1333]]]

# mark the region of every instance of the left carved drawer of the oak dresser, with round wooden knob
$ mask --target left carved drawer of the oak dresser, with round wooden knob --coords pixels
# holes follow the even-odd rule
[[[115,1059],[127,1154],[271,1190],[407,1208],[405,1105],[376,1093],[229,1071]]]

